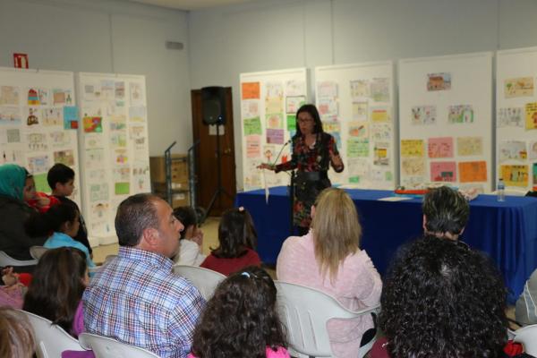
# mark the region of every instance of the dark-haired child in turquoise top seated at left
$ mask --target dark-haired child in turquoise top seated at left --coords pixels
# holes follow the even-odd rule
[[[79,230],[79,211],[75,204],[64,202],[48,209],[46,213],[35,213],[26,221],[26,232],[32,237],[49,235],[43,244],[48,249],[71,246],[86,255],[88,267],[94,268],[90,251],[72,238]]]

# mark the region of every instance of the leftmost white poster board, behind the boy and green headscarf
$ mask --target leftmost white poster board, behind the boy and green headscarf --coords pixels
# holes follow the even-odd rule
[[[72,167],[81,205],[78,125],[72,72],[0,68],[0,164],[24,166],[47,193],[48,169]]]

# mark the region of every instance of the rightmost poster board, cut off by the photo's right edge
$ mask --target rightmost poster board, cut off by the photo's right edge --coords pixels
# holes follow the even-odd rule
[[[510,189],[537,190],[537,47],[497,54],[496,177]]]

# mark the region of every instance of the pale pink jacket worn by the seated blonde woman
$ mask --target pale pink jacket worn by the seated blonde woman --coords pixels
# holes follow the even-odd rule
[[[382,281],[365,251],[357,251],[345,258],[337,271],[334,283],[327,273],[320,275],[315,259],[313,232],[287,238],[277,257],[277,279],[309,286],[334,296],[352,311],[371,307],[380,300]],[[355,320],[328,321],[328,336],[332,351],[338,358],[355,357],[363,332],[373,328],[371,315]]]

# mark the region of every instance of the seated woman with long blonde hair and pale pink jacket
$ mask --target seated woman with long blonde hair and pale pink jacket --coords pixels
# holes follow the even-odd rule
[[[368,254],[360,250],[362,227],[353,200],[341,189],[325,189],[311,207],[311,217],[308,234],[291,236],[283,244],[277,278],[330,294],[349,310],[378,304],[382,282]],[[371,328],[370,315],[328,321],[333,353],[340,358],[356,356],[371,339]]]

